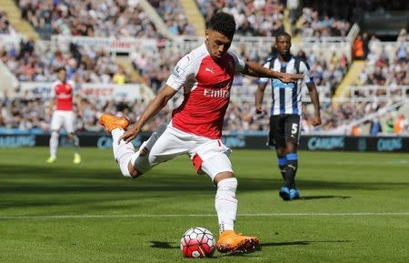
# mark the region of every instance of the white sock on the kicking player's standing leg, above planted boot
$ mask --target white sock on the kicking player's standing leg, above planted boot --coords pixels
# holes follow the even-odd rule
[[[234,221],[237,215],[236,189],[237,179],[235,177],[223,179],[217,184],[214,207],[219,218],[220,233],[224,230],[234,230]]]

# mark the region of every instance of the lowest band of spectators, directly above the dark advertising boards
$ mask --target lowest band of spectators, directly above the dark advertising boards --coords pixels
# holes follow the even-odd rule
[[[146,101],[141,99],[134,102],[125,101],[102,101],[99,99],[83,98],[83,111],[78,113],[76,126],[79,131],[103,131],[102,126],[98,124],[98,117],[103,113],[114,115],[123,115],[131,120],[137,119],[146,106]],[[338,132],[340,134],[351,131],[340,130],[340,127],[351,123],[353,120],[372,114],[382,107],[389,105],[390,102],[379,100],[371,102],[343,102],[337,105],[331,103],[322,103],[323,125],[314,127],[312,125],[313,110],[311,106],[304,106],[304,116],[302,119],[302,128],[304,134]],[[52,110],[49,107],[49,101],[44,97],[33,96],[28,93],[25,95],[10,98],[7,94],[1,100],[0,126],[4,128],[31,129],[37,131],[49,131]],[[144,128],[145,130],[155,130],[159,126],[169,121],[171,117],[171,108],[166,107],[158,116]],[[395,123],[396,119],[402,116],[397,113],[389,113],[388,117]],[[397,122],[396,122],[397,123]],[[365,123],[366,124],[366,123]],[[400,128],[388,129],[390,123],[385,122],[383,130],[385,134],[408,135],[409,126],[407,117],[403,116],[403,121],[399,122]],[[264,113],[255,114],[254,101],[251,100],[232,100],[224,118],[224,130],[237,132],[266,131],[269,129],[269,109],[267,103],[264,106]],[[398,131],[398,132],[396,132]]]

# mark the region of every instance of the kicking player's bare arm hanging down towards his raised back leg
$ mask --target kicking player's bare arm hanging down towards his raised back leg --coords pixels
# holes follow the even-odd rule
[[[135,139],[145,123],[155,116],[162,108],[164,108],[169,99],[175,96],[176,92],[177,91],[171,86],[165,85],[155,96],[155,98],[149,102],[148,106],[145,108],[145,111],[136,121],[135,125],[126,130],[124,135],[118,139],[118,144],[122,139],[124,139],[126,143]]]

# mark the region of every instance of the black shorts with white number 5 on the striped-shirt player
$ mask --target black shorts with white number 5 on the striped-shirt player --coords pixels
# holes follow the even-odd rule
[[[270,134],[268,145],[272,147],[285,147],[286,142],[298,145],[301,129],[301,116],[283,114],[270,116]]]

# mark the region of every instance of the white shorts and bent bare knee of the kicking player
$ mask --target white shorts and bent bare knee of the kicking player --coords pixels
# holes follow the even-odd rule
[[[195,136],[185,133],[174,126],[160,127],[140,149],[145,148],[148,154],[137,157],[134,167],[145,173],[152,167],[187,154],[198,174],[207,174],[214,181],[214,177],[221,172],[233,172],[229,155],[231,149],[224,146],[220,139]]]

